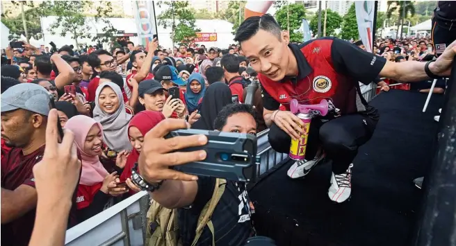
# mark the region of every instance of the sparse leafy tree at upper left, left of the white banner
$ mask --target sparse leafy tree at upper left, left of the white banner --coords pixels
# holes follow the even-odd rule
[[[54,35],[56,29],[60,28],[60,35],[63,37],[70,33],[71,38],[76,42],[76,47],[79,46],[79,38],[92,38],[92,41],[99,42],[112,41],[113,33],[116,33],[117,30],[106,19],[106,17],[110,17],[109,13],[112,11],[111,2],[104,1],[96,8],[95,22],[102,21],[106,25],[100,31],[95,28],[95,22],[90,21],[82,13],[82,10],[94,8],[92,4],[91,1],[43,1],[39,8],[35,8],[35,11],[40,16],[56,16],[56,21],[49,26],[48,30]],[[89,33],[90,25],[97,30],[95,37]]]

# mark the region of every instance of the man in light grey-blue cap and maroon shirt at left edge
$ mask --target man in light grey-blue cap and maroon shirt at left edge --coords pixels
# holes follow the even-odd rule
[[[28,245],[37,193],[33,166],[44,153],[50,95],[40,85],[15,85],[1,94],[1,138],[13,147],[1,159],[1,239]]]

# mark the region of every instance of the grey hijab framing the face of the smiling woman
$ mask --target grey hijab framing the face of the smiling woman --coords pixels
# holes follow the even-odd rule
[[[113,114],[106,114],[106,112],[99,107],[98,98],[104,87],[111,87],[119,99],[120,106]],[[131,150],[132,146],[128,136],[128,124],[132,116],[125,112],[125,105],[120,87],[113,82],[104,82],[101,85],[98,85],[96,94],[93,118],[103,126],[104,142],[111,150],[115,150],[116,152]]]

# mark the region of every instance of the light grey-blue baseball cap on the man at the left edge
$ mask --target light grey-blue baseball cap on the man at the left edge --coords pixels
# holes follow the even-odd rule
[[[8,88],[1,94],[1,112],[25,109],[37,114],[49,114],[50,94],[44,87],[32,83],[21,83]]]

